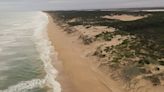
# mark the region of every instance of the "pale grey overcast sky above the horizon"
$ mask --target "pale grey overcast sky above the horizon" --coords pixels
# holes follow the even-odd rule
[[[68,10],[161,6],[164,6],[164,0],[0,0],[0,10]]]

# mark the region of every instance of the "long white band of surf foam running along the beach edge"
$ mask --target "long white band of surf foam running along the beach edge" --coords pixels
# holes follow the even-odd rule
[[[48,86],[53,89],[53,92],[61,92],[60,84],[55,80],[57,77],[58,71],[53,67],[51,55],[53,54],[51,42],[47,36],[47,24],[48,16],[45,13],[40,12],[39,19],[42,19],[42,22],[38,24],[37,29],[34,32],[34,41],[38,52],[40,53],[40,58],[44,63],[44,70],[46,71],[45,80]]]

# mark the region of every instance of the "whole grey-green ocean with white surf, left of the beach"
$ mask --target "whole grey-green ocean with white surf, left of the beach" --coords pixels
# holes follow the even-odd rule
[[[0,13],[0,92],[61,92],[43,12]]]

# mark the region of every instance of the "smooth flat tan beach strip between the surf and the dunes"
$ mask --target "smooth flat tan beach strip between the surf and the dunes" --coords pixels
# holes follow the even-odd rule
[[[91,69],[89,59],[81,56],[80,45],[72,42],[67,35],[53,23],[49,17],[48,35],[58,59],[62,65],[59,69],[59,81],[64,92],[112,92]]]

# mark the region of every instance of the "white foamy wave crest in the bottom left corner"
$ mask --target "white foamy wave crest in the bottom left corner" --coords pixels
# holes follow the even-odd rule
[[[22,81],[17,85],[8,87],[5,90],[0,90],[0,92],[26,92],[29,89],[42,87],[45,84],[45,80],[33,79],[30,81]]]

